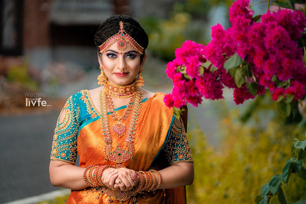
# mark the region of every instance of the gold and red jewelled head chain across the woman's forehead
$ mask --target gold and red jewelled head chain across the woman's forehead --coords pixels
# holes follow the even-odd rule
[[[132,48],[136,50],[138,54],[143,54],[144,48],[140,46],[129,34],[125,32],[123,29],[123,22],[120,21],[119,23],[120,30],[115,35],[111,36],[107,39],[102,45],[99,46],[100,53],[105,52],[112,44],[118,41],[117,49],[118,50],[125,50],[126,43],[129,43]]]

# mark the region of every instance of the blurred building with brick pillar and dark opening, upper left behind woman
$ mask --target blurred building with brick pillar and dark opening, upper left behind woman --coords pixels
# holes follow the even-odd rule
[[[129,14],[122,0],[1,0],[0,73],[27,57],[31,67],[51,60],[96,62],[93,36],[113,14]],[[94,52],[93,52],[94,51]]]

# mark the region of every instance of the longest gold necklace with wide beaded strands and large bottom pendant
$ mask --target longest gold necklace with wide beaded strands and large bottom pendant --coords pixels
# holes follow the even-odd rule
[[[99,102],[100,102],[100,110],[102,113],[102,116],[100,117],[101,121],[101,127],[102,127],[102,135],[104,136],[104,142],[106,143],[105,148],[104,148],[104,154],[105,156],[105,161],[110,159],[113,162],[116,163],[122,163],[130,158],[133,159],[133,154],[134,154],[134,145],[133,141],[135,139],[135,130],[136,130],[136,125],[137,121],[139,119],[139,113],[140,113],[140,108],[141,108],[141,102],[142,102],[142,92],[137,91],[135,94],[135,100],[133,101],[133,106],[131,108],[131,119],[129,122],[129,126],[127,128],[127,133],[126,133],[126,138],[125,142],[126,145],[123,147],[120,143],[116,146],[115,150],[112,151],[112,138],[110,134],[110,126],[109,126],[109,121],[108,121],[108,109],[107,109],[107,98],[108,94],[106,91],[100,91],[99,93]]]

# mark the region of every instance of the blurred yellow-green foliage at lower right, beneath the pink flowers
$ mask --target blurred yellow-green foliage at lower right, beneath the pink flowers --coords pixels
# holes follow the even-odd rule
[[[292,157],[291,140],[304,140],[306,127],[284,121],[269,94],[256,103],[249,104],[247,118],[245,112],[227,108],[224,101],[214,103],[222,137],[218,149],[207,143],[200,130],[188,132],[196,172],[193,184],[187,186],[188,203],[255,203],[262,185],[282,173]],[[292,203],[305,197],[306,182],[293,174],[282,188]],[[269,203],[279,202],[272,197]]]

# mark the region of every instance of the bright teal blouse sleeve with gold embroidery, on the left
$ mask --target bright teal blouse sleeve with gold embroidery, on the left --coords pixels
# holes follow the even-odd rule
[[[62,114],[64,118],[60,120]],[[80,126],[80,103],[70,96],[59,114],[54,130],[50,159],[76,163],[76,137]]]

